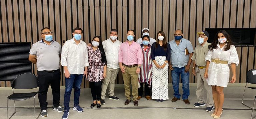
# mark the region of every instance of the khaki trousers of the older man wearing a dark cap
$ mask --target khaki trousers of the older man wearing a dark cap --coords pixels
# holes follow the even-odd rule
[[[212,97],[212,87],[207,84],[206,79],[204,78],[205,68],[199,69],[196,67],[196,79],[197,79],[197,88],[196,88],[196,96],[198,99],[198,103],[203,104],[206,103],[207,107],[213,106],[213,97]],[[204,89],[206,90],[206,101],[204,99]]]

